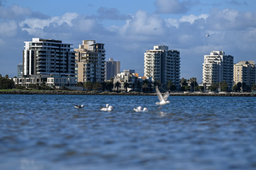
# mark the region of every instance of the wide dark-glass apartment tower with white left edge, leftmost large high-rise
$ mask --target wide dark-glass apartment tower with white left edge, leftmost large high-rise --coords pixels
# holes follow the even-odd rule
[[[60,40],[32,38],[23,50],[23,75],[64,74],[75,76],[72,44]]]

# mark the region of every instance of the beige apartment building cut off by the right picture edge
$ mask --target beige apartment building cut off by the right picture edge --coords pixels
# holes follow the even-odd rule
[[[234,64],[234,82],[252,86],[256,83],[255,61],[240,61]]]

